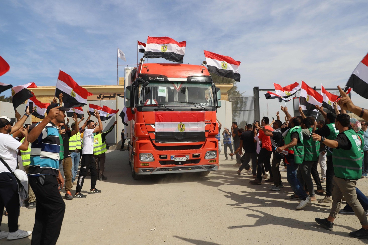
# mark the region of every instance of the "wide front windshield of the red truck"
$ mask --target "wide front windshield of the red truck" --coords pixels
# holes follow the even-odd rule
[[[149,85],[138,89],[139,106],[215,106],[211,82],[170,82],[150,81]]]

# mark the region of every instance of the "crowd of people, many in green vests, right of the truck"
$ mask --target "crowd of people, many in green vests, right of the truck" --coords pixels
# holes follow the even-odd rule
[[[261,122],[254,121],[244,129],[239,128],[237,122],[232,123],[231,130],[224,127],[225,160],[228,160],[228,155],[235,155],[234,166],[239,167],[238,175],[245,169],[244,174],[252,174],[254,178],[249,184],[270,182],[273,185],[268,188],[272,191],[280,191],[284,187],[280,173],[283,160],[281,171],[286,171],[287,182],[294,192],[290,198],[299,200],[297,210],[311,202],[332,203],[330,215],[326,219],[315,218],[315,221],[323,228],[333,230],[333,221],[338,213],[355,213],[362,228],[349,235],[368,239],[368,198],[356,188],[357,180],[367,177],[368,172],[368,113],[355,106],[350,97],[338,88],[342,97],[334,103],[335,113],[326,113],[323,107],[315,106],[325,120],[306,117],[301,107],[300,115],[292,117],[287,107],[281,106],[285,113],[284,123],[277,112],[277,120],[272,122],[263,117]],[[347,110],[363,120],[350,118]],[[227,148],[231,153],[227,153]],[[326,182],[325,189],[322,188],[323,182]],[[316,195],[324,197],[317,200]],[[343,209],[342,201],[347,203]]]

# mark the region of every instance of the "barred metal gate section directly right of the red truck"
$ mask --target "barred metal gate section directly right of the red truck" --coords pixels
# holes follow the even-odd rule
[[[233,109],[233,121],[238,123],[238,127],[244,128],[247,124],[252,124],[254,118],[254,99],[248,97],[229,97]]]

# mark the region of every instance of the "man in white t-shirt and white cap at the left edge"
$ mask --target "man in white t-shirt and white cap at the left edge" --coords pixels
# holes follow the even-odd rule
[[[28,237],[32,234],[32,231],[23,231],[18,229],[18,217],[19,217],[19,195],[18,195],[18,183],[11,173],[17,168],[17,152],[16,150],[27,150],[28,132],[25,128],[21,128],[20,131],[25,136],[23,143],[15,140],[13,136],[9,135],[12,131],[11,126],[14,124],[14,118],[8,118],[6,116],[0,117],[0,157],[5,163],[0,162],[0,224],[3,219],[4,207],[8,212],[8,227],[9,232],[0,231],[0,239],[7,237],[9,240]]]

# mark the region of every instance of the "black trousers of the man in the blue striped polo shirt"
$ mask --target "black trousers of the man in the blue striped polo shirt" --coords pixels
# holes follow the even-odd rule
[[[44,176],[43,184],[40,181],[42,177],[29,177],[29,184],[37,200],[32,245],[56,244],[64,219],[65,203],[60,195],[56,177]]]

